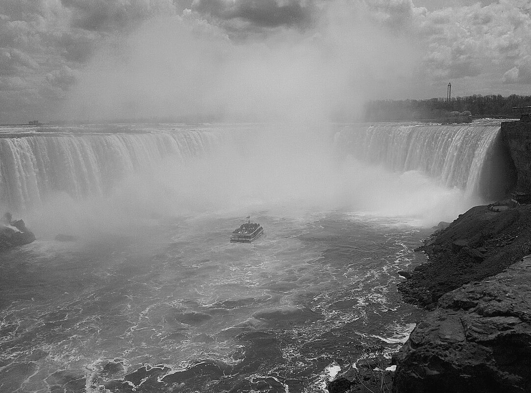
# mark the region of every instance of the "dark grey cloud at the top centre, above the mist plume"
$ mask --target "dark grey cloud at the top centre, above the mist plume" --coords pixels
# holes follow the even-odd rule
[[[222,20],[241,19],[259,27],[304,26],[311,22],[312,2],[302,0],[194,0],[194,11]]]

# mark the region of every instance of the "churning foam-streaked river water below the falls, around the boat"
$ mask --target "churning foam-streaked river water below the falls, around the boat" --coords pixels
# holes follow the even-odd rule
[[[404,245],[411,253],[418,232],[364,227],[337,213],[256,217],[266,236],[250,245],[228,243],[233,219],[216,218],[179,220],[157,233],[148,227],[140,237],[108,245],[62,249],[37,241],[20,251],[29,263],[10,253],[4,269],[11,277],[25,272],[28,281],[24,289],[3,288],[9,295],[3,293],[0,321],[14,331],[0,344],[3,362],[29,361],[42,351],[36,374],[28,375],[29,391],[46,378],[52,385],[79,380],[87,391],[116,380],[159,391],[167,379],[182,380],[183,391],[205,389],[207,382],[210,391],[222,391],[219,370],[241,391],[267,384],[311,391],[350,345],[373,332],[394,335],[393,327],[415,312],[390,291],[399,280],[393,269],[404,266],[383,267],[402,258]],[[263,359],[258,369],[256,356]],[[110,374],[107,362],[123,367]],[[198,373],[194,385],[189,376]]]

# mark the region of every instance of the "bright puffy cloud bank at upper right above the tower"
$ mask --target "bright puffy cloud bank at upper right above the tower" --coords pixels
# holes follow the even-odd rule
[[[517,72],[525,66],[517,63],[531,53],[528,8],[526,2],[500,0],[418,14],[413,23],[427,48],[423,78],[460,80],[456,86],[468,84],[469,94],[487,86],[503,89],[509,81],[527,83],[526,72]]]

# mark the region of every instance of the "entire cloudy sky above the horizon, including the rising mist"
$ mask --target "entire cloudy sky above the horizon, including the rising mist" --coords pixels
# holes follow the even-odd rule
[[[530,47],[531,0],[2,0],[0,124],[529,95]]]

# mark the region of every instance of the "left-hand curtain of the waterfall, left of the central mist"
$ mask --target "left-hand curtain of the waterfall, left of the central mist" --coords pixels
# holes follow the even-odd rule
[[[167,157],[178,162],[201,155],[222,138],[204,129],[20,135],[0,138],[0,203],[6,210],[39,206],[49,192],[100,195],[135,170]]]

